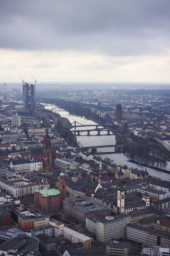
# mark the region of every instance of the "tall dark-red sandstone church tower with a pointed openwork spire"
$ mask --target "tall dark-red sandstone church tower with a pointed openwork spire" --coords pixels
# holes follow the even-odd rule
[[[43,154],[42,157],[43,157],[44,167],[52,167],[53,160],[52,160],[52,154],[51,154],[51,140],[50,140],[50,136],[48,135],[48,129],[46,129],[46,134],[44,137],[42,154]]]

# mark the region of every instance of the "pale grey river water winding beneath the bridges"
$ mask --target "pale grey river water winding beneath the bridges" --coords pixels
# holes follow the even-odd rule
[[[43,104],[43,105],[45,105],[45,104]],[[45,106],[45,108],[49,109],[49,110],[54,107],[57,107],[57,106],[52,105],[52,104],[48,104],[48,106]],[[95,127],[93,125],[97,124],[96,122],[92,121],[91,119],[85,118],[85,116],[77,116],[75,114],[70,114],[68,111],[59,112],[59,110],[62,110],[62,109],[57,108],[56,112],[58,112],[60,114],[60,116],[67,118],[69,120],[69,122],[71,122],[71,123],[73,123],[74,121],[77,121],[82,125],[91,125],[91,127],[87,127],[87,129],[89,129],[89,130],[94,129]],[[54,110],[54,112],[55,112],[55,110]],[[102,126],[99,128],[102,128]],[[77,128],[77,129],[85,130],[86,127]],[[71,130],[74,130],[74,128]],[[91,134],[90,136],[87,136],[87,131],[82,131],[82,132],[80,131],[80,136],[77,136],[77,141],[80,141],[83,146],[115,145],[116,144],[116,136],[112,132],[110,132],[111,135],[108,135],[107,131],[101,131],[100,134],[102,136],[97,135],[97,131],[91,131],[90,134]],[[123,144],[123,142],[122,142],[122,144]],[[113,151],[114,152],[114,148],[99,148],[99,151],[102,151],[102,152]],[[151,166],[156,166],[156,167],[165,169],[170,172],[170,161],[167,161],[167,163],[154,162],[151,160],[143,159],[142,157],[139,158],[136,155],[133,155],[133,157],[132,157],[129,153],[125,153],[125,152],[117,153],[117,154],[108,154],[108,153],[101,154],[101,157],[102,157],[102,159],[104,159],[105,157],[109,157],[111,160],[115,160],[116,164],[118,164],[118,165],[119,164],[127,165],[128,167],[145,170],[144,166],[140,166],[136,163],[127,162],[127,158],[130,158],[130,159],[136,160],[137,162],[147,163]],[[156,176],[163,180],[170,179],[170,173],[161,172],[161,171],[151,169],[148,167],[147,167],[147,171],[149,172],[149,175],[151,175],[151,176]]]

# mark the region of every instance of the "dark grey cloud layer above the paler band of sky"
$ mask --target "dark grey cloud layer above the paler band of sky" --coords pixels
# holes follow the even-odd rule
[[[162,54],[169,14],[169,0],[1,0],[0,47]]]

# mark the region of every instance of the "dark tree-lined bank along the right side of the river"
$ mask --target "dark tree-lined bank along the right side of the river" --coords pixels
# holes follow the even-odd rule
[[[44,102],[45,99],[44,99]],[[105,125],[106,121],[104,119],[99,118],[98,116],[94,115],[89,111],[88,108],[82,106],[81,104],[77,102],[66,102],[63,99],[48,99],[48,102],[51,102],[51,104],[55,105],[62,105],[64,109],[69,109],[69,112],[71,115],[78,116],[85,116],[85,118],[93,120],[99,125]],[[113,127],[112,125],[108,125],[108,128],[116,135],[117,143],[124,144],[126,146],[126,152],[131,154],[136,154],[138,157],[141,158],[150,158],[151,152],[152,159],[154,157],[154,160],[157,162],[160,162],[161,159],[168,160],[169,155],[166,154],[165,149],[162,148],[161,145],[156,145],[154,142],[150,141],[137,141],[137,138],[132,137],[131,134],[127,134],[126,131],[119,130],[119,128],[116,126]],[[68,131],[69,132],[69,131]],[[133,145],[132,145],[133,141]]]

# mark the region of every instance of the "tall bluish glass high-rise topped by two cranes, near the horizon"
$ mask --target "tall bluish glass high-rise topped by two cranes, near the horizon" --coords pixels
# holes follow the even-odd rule
[[[23,82],[23,107],[24,111],[30,111],[30,115],[35,115],[35,90],[33,84]]]

